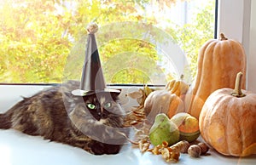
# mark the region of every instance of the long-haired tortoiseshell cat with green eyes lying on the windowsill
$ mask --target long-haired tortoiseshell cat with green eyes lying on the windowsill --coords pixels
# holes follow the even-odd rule
[[[0,128],[73,145],[94,155],[117,154],[129,136],[118,94],[74,96],[79,82],[46,88],[0,114]]]

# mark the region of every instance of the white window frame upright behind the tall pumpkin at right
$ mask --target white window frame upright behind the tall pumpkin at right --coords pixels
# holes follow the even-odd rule
[[[219,0],[218,33],[236,39],[247,54],[247,90],[256,93],[256,1]]]

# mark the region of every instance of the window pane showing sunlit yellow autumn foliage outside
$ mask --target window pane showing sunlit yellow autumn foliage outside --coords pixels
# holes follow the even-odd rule
[[[198,49],[214,37],[215,0],[3,0],[0,82],[80,79],[86,31],[96,21],[108,84],[195,77]]]

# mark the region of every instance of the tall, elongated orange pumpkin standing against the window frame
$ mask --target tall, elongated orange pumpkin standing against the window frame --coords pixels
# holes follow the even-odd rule
[[[227,39],[224,34],[219,39],[207,41],[198,54],[195,82],[185,98],[185,109],[198,118],[207,97],[218,88],[234,88],[236,73],[246,74],[246,54],[241,43]],[[245,77],[241,88],[245,88]]]

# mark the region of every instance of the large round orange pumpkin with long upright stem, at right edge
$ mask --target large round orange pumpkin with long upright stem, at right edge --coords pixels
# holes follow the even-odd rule
[[[206,100],[199,117],[201,137],[227,156],[256,154],[256,94],[241,90],[241,72],[236,88],[221,88]]]

